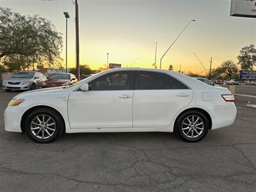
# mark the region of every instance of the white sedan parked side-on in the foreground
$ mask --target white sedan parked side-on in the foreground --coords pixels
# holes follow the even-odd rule
[[[62,132],[176,132],[202,140],[232,125],[234,95],[170,70],[116,68],[62,88],[20,93],[4,112],[5,130],[38,143]]]

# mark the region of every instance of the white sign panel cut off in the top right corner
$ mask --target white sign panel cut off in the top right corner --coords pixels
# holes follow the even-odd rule
[[[231,0],[230,16],[256,18],[256,0]]]

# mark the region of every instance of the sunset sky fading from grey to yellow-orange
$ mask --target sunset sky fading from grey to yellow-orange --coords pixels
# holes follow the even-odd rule
[[[195,54],[209,70],[225,60],[237,62],[242,47],[256,45],[256,19],[230,17],[231,0],[78,0],[80,63],[92,69],[107,63],[122,67],[157,68],[161,56],[180,31],[195,19],[164,56],[162,68],[205,74]],[[0,0],[0,6],[21,15],[51,20],[63,35],[65,65],[65,16],[68,12],[68,67],[76,66],[75,7],[72,0]]]

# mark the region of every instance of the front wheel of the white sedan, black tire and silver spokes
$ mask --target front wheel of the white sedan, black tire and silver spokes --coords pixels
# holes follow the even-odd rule
[[[51,143],[62,134],[63,127],[61,116],[49,108],[36,109],[25,120],[26,134],[36,143]]]

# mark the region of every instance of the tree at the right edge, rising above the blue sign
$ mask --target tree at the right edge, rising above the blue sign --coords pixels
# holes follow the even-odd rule
[[[256,47],[255,45],[249,45],[243,47],[237,57],[239,65],[243,70],[253,70],[256,66]]]

